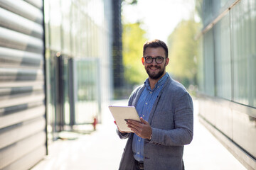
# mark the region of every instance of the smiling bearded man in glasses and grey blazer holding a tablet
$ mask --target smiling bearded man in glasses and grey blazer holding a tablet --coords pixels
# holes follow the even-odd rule
[[[119,169],[184,169],[183,146],[193,138],[191,96],[166,73],[169,58],[163,41],[144,44],[142,64],[149,78],[129,97],[142,123],[128,120],[132,133],[117,130],[120,138],[128,138]]]

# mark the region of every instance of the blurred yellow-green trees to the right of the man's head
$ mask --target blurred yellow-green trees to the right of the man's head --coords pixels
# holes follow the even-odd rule
[[[199,24],[193,19],[181,21],[168,38],[170,72],[184,86],[196,85],[198,42],[195,40]]]

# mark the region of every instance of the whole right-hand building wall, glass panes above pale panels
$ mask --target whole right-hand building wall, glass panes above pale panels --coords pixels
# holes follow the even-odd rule
[[[256,169],[256,3],[201,5],[201,120],[247,169]]]

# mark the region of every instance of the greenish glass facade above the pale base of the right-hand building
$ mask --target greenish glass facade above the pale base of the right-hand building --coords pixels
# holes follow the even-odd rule
[[[214,1],[214,6],[210,6],[213,1],[204,2],[203,11],[209,12],[203,22],[218,16],[220,10],[213,9],[216,6],[221,9],[233,2]],[[199,67],[203,67],[204,76],[198,80],[204,94],[256,107],[255,13],[255,1],[240,1],[203,35],[203,62]]]

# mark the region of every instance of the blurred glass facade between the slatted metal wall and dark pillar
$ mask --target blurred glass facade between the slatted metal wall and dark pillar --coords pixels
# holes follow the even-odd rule
[[[112,4],[44,1],[48,138],[73,125],[100,122],[112,97]]]

